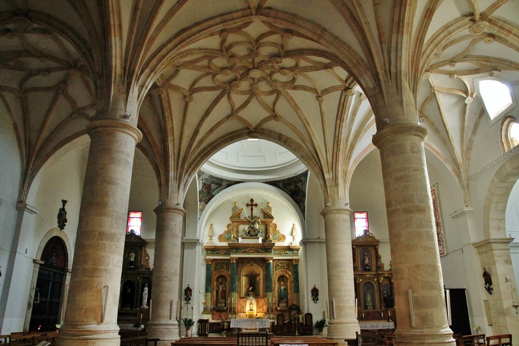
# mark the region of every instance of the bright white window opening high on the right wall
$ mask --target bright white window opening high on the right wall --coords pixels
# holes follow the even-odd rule
[[[495,78],[482,78],[477,82],[477,86],[490,120],[496,119],[512,104],[510,89],[501,81]]]

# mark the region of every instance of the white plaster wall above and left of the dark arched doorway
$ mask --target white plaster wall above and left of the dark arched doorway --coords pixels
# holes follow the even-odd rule
[[[26,315],[31,286],[33,260],[45,234],[57,227],[57,214],[67,200],[67,224],[63,232],[72,247],[76,240],[79,207],[83,191],[89,139],[80,137],[63,146],[38,172],[26,203],[38,210],[37,214],[25,213],[20,230],[17,257],[13,267],[13,281],[9,289],[6,315],[2,333],[21,331]],[[74,254],[69,255],[72,263]]]

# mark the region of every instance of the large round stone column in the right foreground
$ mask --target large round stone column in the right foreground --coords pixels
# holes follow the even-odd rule
[[[408,123],[386,127],[373,138],[386,194],[398,317],[395,346],[455,345],[445,311],[426,137],[424,127]]]

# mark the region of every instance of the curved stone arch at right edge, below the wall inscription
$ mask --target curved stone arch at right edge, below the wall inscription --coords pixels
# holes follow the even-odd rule
[[[491,179],[483,206],[484,239],[506,238],[506,205],[510,192],[519,179],[519,156],[514,155]]]

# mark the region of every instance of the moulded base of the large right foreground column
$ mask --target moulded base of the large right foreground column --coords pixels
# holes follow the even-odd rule
[[[397,330],[394,332],[394,346],[404,345],[438,345],[438,346],[456,346],[456,340],[453,338],[453,331],[446,329],[413,329],[413,330]]]

